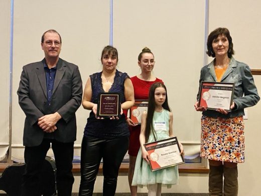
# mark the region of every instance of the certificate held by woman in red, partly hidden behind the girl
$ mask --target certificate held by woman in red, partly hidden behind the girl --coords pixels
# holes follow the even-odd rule
[[[130,110],[130,119],[135,124],[142,123],[142,113],[148,110],[148,100],[135,100],[134,106]]]

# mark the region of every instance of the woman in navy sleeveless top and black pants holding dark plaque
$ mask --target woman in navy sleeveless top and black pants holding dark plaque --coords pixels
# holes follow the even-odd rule
[[[101,53],[102,71],[90,75],[85,85],[82,106],[91,113],[82,139],[79,195],[92,195],[101,159],[103,194],[114,195],[128,149],[129,131],[122,110],[134,105],[134,89],[129,76],[116,69],[117,62],[116,48],[106,46]]]

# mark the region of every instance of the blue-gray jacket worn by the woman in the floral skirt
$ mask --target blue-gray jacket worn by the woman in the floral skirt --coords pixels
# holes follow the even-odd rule
[[[201,81],[217,81],[214,60],[201,69],[199,85]],[[233,102],[235,103],[235,108],[227,115],[220,114],[213,110],[207,110],[202,113],[203,115],[222,118],[243,116],[244,108],[254,106],[260,100],[249,66],[236,61],[233,57],[230,59],[229,66],[222,76],[221,82],[234,82]],[[197,100],[199,100],[199,91]]]

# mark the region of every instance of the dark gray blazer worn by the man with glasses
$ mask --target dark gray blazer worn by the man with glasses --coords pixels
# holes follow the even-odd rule
[[[62,119],[56,124],[54,138],[65,143],[76,140],[75,112],[82,100],[82,80],[78,66],[59,58],[51,106],[48,109],[44,63],[45,59],[23,67],[17,91],[19,105],[26,115],[23,137],[25,146],[41,144],[45,132],[38,126],[38,119],[55,112]]]

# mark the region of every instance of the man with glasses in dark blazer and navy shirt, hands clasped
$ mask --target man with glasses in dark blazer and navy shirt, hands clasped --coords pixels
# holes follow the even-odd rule
[[[57,167],[58,195],[71,195],[75,112],[81,105],[82,80],[78,66],[59,58],[62,40],[55,30],[42,36],[45,58],[23,67],[19,104],[26,114],[23,142],[26,170],[22,195],[41,195],[41,168],[52,143]]]

